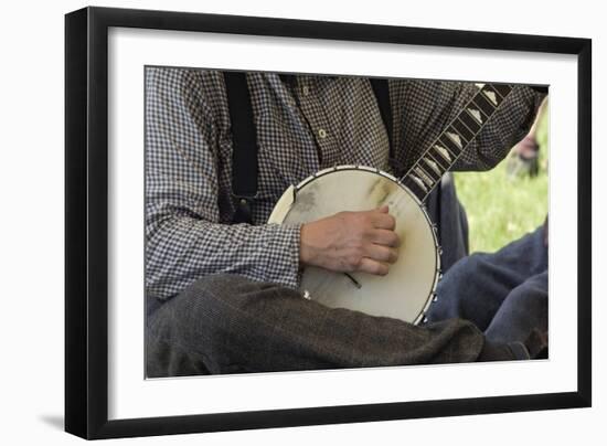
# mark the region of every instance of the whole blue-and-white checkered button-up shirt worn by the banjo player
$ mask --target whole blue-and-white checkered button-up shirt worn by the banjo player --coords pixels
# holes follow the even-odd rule
[[[477,92],[471,83],[390,79],[393,158],[364,77],[247,73],[258,145],[253,222],[231,224],[232,135],[221,72],[146,68],[146,288],[164,299],[236,273],[297,287],[299,225],[267,224],[285,189],[362,164],[402,176]],[[456,169],[486,170],[529,130],[541,95],[517,86]]]

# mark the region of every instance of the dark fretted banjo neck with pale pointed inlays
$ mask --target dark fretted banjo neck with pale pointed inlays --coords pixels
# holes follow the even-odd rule
[[[507,84],[476,85],[479,91],[401,179],[422,202],[512,91]]]

